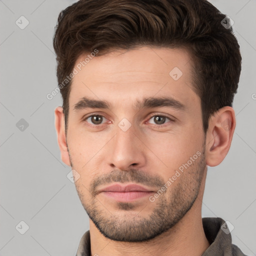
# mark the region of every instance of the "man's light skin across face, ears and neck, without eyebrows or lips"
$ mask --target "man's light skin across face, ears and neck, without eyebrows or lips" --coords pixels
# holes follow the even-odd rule
[[[62,108],[56,107],[61,159],[79,174],[75,187],[90,218],[91,255],[201,255],[209,246],[201,222],[207,165],[218,165],[227,154],[235,114],[222,107],[203,133],[191,64],[181,48],[114,50],[93,57],[73,77],[66,136]],[[169,75],[174,67],[182,71],[177,80]],[[75,110],[83,96],[107,100],[111,108]],[[136,100],[156,96],[173,97],[185,110],[134,107]],[[131,124],[126,131],[118,126],[123,118]],[[99,192],[113,183],[136,183],[154,195],[169,178],[173,182],[154,201],[118,202]]]

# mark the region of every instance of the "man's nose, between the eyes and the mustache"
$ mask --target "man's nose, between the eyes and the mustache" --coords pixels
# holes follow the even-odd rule
[[[116,134],[109,143],[108,162],[111,167],[127,170],[134,166],[144,166],[146,162],[145,145],[141,142],[141,133],[136,132],[133,126],[123,131],[118,126]]]

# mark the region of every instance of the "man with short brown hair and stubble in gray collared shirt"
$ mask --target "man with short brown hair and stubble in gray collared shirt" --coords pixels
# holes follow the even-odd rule
[[[80,0],[53,46],[61,159],[89,216],[76,255],[244,255],[223,219],[201,217],[235,128],[227,17],[206,0]]]

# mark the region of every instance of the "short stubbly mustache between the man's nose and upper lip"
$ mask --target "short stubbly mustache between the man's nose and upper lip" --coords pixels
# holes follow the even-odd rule
[[[164,180],[158,175],[150,175],[148,172],[131,168],[129,170],[112,170],[95,178],[90,184],[90,193],[92,196],[96,195],[96,188],[99,185],[107,185],[112,182],[134,182],[149,187],[161,187],[164,185]]]

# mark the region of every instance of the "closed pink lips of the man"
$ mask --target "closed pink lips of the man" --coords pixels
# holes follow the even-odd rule
[[[137,184],[129,184],[126,186],[113,184],[100,189],[99,193],[116,201],[131,202],[149,196],[154,193],[154,191]]]

